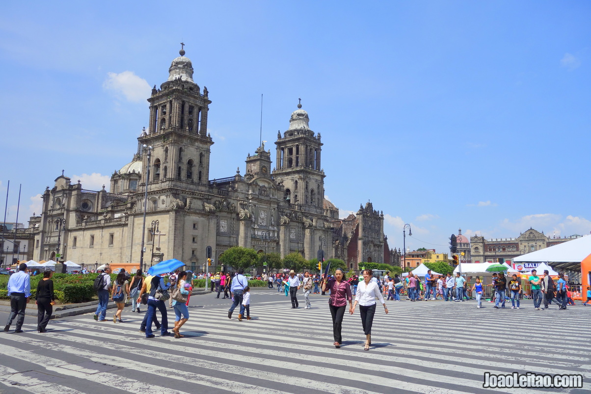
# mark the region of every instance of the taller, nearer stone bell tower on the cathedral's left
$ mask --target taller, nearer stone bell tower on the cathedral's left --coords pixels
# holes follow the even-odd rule
[[[168,69],[168,80],[160,89],[155,85],[152,89],[148,99],[150,125],[138,141],[152,146],[151,184],[157,188],[200,190],[209,184],[213,141],[207,133],[207,111],[211,101],[207,87],[202,93],[193,81],[193,64],[182,48],[179,54]]]

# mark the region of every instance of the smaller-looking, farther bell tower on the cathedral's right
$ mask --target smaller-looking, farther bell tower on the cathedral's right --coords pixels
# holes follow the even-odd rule
[[[323,214],[324,171],[320,167],[320,133],[310,130],[308,113],[301,109],[291,113],[290,127],[277,135],[276,181],[285,187],[284,200],[291,206],[310,213]]]

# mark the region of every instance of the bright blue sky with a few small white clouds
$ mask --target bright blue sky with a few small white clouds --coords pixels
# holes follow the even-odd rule
[[[4,4],[1,208],[8,180],[25,223],[61,170],[108,187],[182,40],[212,100],[210,178],[244,174],[261,94],[271,149],[301,97],[326,196],[342,217],[371,200],[391,247],[405,223],[438,252],[459,227],[588,234],[590,20],[588,1]]]

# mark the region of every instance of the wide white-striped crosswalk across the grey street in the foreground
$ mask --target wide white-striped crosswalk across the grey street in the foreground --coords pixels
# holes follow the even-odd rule
[[[376,309],[363,351],[359,312],[345,315],[332,346],[327,299],[292,310],[288,299],[251,305],[253,320],[227,307],[190,308],[186,337],[146,339],[142,315],[97,323],[92,315],[51,321],[38,334],[0,333],[5,393],[539,393],[483,389],[483,374],[584,376],[589,392],[590,310],[476,309],[474,302],[388,302]],[[169,318],[174,314],[169,310]],[[157,334],[157,333],[156,333]]]

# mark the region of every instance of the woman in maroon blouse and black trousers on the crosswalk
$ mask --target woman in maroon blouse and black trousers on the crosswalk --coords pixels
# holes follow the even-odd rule
[[[324,276],[324,275],[323,275]],[[345,307],[349,301],[349,312],[352,314],[352,296],[351,286],[345,278],[345,271],[340,268],[335,270],[335,278],[326,280],[322,278],[322,291],[330,290],[329,307],[330,314],[333,318],[333,336],[335,337],[335,347],[339,349],[343,343],[343,338],[340,331],[343,325],[343,315],[345,315]]]

